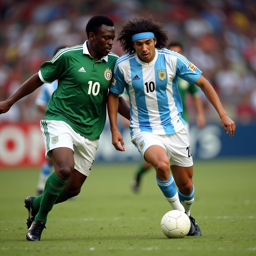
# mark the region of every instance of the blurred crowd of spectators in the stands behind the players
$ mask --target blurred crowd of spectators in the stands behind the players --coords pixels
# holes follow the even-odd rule
[[[87,40],[86,24],[96,14],[113,19],[116,36],[128,20],[152,14],[164,23],[170,42],[184,45],[184,55],[214,86],[228,115],[243,124],[256,121],[253,0],[2,0],[0,101],[38,72],[58,46],[83,44]],[[119,42],[114,42],[112,52],[123,55]],[[0,115],[0,122],[42,118],[34,105],[36,93]],[[217,113],[204,95],[202,99],[208,121],[217,120]],[[189,109],[193,113],[193,108]]]

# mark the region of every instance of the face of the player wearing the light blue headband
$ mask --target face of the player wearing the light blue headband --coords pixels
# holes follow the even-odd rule
[[[133,47],[137,52],[138,58],[146,63],[151,62],[155,55],[156,38],[140,39],[133,42]]]

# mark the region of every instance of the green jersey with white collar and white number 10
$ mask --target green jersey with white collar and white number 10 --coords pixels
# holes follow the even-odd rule
[[[64,121],[84,137],[99,139],[106,121],[106,101],[115,62],[113,53],[100,60],[83,45],[61,49],[40,67],[44,83],[58,79],[45,113],[46,120]]]

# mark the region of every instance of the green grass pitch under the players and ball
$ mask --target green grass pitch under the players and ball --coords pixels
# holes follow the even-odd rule
[[[192,215],[201,237],[168,239],[160,228],[171,210],[154,170],[139,194],[137,163],[98,164],[80,195],[55,205],[40,242],[25,240],[24,198],[35,194],[38,169],[0,172],[0,255],[256,255],[255,159],[195,161]]]

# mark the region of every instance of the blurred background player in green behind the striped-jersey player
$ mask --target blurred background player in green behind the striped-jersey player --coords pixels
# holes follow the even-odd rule
[[[171,42],[167,46],[168,50],[176,51],[179,54],[183,55],[183,46],[179,42]],[[191,94],[193,98],[193,102],[197,111],[197,118],[196,118],[196,124],[199,129],[202,129],[205,126],[205,115],[204,115],[204,109],[203,104],[200,98],[200,94],[198,91],[198,88],[195,84],[189,84],[187,81],[181,79],[178,77],[178,90],[179,94],[182,100],[182,106],[183,106],[183,113],[182,118],[184,119],[185,127],[187,131],[189,132],[189,123],[188,123],[188,117],[187,117],[187,106],[186,106],[186,96],[187,94]],[[126,122],[126,120],[125,120]],[[128,123],[128,122],[127,122]],[[129,125],[129,124],[128,124]],[[134,192],[138,192],[140,189],[141,184],[141,178],[144,173],[147,172],[152,167],[151,164],[147,163],[146,161],[143,161],[137,172],[135,173],[134,180],[132,180],[132,189]]]

